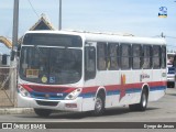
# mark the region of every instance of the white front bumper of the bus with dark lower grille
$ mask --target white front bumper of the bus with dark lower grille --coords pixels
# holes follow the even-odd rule
[[[82,98],[78,97],[74,100],[47,100],[23,97],[18,94],[19,108],[38,108],[62,111],[82,111]]]

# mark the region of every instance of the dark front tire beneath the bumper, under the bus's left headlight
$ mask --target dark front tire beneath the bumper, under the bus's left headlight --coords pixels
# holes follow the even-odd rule
[[[35,109],[34,108],[34,112],[38,116],[38,117],[43,117],[46,118],[52,113],[52,110],[48,109]]]

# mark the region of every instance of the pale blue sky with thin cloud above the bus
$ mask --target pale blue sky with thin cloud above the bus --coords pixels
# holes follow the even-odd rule
[[[59,0],[19,0],[19,37],[44,13],[58,29]],[[0,35],[12,38],[14,0],[1,0]],[[31,6],[31,4],[32,6]],[[62,29],[166,36],[176,51],[176,0],[62,0]],[[167,18],[158,18],[161,7]],[[0,44],[0,53],[9,52]]]

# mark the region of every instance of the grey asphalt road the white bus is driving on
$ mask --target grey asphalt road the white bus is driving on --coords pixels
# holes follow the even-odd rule
[[[146,124],[151,124],[150,122],[176,122],[176,88],[168,88],[167,94],[158,101],[148,102],[147,110],[144,112],[132,112],[128,107],[123,107],[109,109],[101,117],[92,117],[85,112],[56,112],[48,118],[38,118],[35,113],[1,114],[0,122],[79,122],[80,125],[81,122],[103,122],[102,125],[105,122],[145,122]]]

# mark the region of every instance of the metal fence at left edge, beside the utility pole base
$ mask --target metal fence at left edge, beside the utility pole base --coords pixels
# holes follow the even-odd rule
[[[14,107],[16,89],[16,67],[0,67],[0,108]]]

